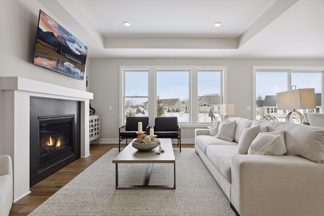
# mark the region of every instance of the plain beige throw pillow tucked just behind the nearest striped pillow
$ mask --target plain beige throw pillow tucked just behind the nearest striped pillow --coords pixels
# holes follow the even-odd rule
[[[253,140],[257,137],[259,133],[263,133],[263,129],[261,125],[257,125],[254,127],[245,128],[239,138],[239,142],[237,145],[237,151],[239,154],[248,154],[248,150],[251,146]]]

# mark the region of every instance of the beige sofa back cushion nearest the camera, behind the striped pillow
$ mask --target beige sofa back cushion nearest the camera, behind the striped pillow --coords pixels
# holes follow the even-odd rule
[[[324,163],[324,128],[287,121],[254,120],[252,126],[261,124],[268,131],[285,131],[287,155],[300,155],[318,163]]]

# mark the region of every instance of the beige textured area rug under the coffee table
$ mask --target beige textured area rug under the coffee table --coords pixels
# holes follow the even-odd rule
[[[235,215],[194,149],[174,152],[176,189],[115,189],[114,148],[29,215]],[[119,184],[143,184],[147,167],[119,163]],[[154,163],[150,184],[173,185],[173,164]]]

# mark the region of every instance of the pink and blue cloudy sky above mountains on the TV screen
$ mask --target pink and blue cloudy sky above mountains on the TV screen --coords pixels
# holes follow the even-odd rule
[[[65,38],[68,46],[74,53],[80,55],[87,55],[88,48],[81,41],[76,39],[72,34],[60,26],[57,22],[47,16],[43,11],[39,13],[38,27],[43,31],[53,32],[55,36],[61,35]]]

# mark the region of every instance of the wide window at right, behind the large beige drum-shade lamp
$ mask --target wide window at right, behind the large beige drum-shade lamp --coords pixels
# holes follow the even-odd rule
[[[277,110],[276,93],[291,90],[295,85],[296,89],[313,88],[315,90],[315,109],[298,110],[301,113],[320,112],[322,113],[322,73],[317,71],[293,71],[285,68],[278,69],[254,69],[255,71],[255,97],[256,97],[256,119],[264,115],[273,115],[278,121],[285,121],[289,110]],[[298,116],[293,115],[293,122],[299,123]]]

